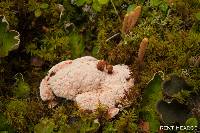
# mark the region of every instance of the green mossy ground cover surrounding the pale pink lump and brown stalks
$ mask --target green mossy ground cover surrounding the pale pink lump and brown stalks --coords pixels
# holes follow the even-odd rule
[[[136,6],[141,15],[124,34],[123,18]],[[145,37],[149,43],[138,72]],[[134,102],[113,119],[101,109],[81,112],[66,100],[49,109],[40,99],[47,71],[84,55],[125,63],[139,79],[127,95]],[[199,0],[0,1],[0,131],[155,133],[163,122],[196,126],[199,92]]]

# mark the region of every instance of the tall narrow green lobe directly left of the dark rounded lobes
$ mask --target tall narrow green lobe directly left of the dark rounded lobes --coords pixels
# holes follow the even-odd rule
[[[149,82],[147,88],[144,90],[143,103],[141,105],[141,118],[149,122],[151,132],[157,132],[160,125],[156,105],[162,98],[162,74],[161,72],[156,73],[154,78]]]

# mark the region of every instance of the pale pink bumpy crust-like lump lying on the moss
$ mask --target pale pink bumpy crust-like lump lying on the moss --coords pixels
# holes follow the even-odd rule
[[[108,107],[110,117],[115,106],[134,86],[126,65],[113,66],[112,74],[97,69],[99,60],[91,56],[60,62],[49,70],[40,84],[40,96],[54,106],[55,96],[73,100],[83,110],[95,111],[99,105]]]

